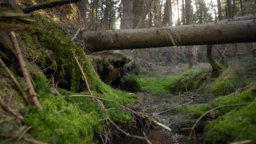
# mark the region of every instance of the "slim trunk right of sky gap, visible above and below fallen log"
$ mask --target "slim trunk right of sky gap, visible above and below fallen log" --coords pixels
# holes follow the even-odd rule
[[[185,0],[185,15],[186,15],[186,25],[193,25],[193,9],[191,7],[191,0]],[[189,67],[191,68],[196,64],[196,49],[195,46],[186,46],[189,49]]]

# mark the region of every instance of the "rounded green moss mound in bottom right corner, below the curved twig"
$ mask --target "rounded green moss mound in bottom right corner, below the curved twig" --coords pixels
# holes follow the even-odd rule
[[[205,127],[205,138],[211,143],[229,143],[243,140],[256,142],[256,103],[232,110]]]

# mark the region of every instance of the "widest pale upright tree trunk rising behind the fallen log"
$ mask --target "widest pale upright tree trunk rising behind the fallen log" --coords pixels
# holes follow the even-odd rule
[[[123,0],[123,29],[132,29],[132,0]]]

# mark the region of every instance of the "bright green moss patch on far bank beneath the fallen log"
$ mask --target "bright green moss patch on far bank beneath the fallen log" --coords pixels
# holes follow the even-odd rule
[[[193,78],[202,74],[201,70],[188,70],[183,74],[172,75],[164,79],[157,77],[142,77],[136,75],[130,75],[126,77],[125,83],[135,83],[139,91],[148,92],[151,94],[158,94],[160,92],[171,93],[174,91],[181,90],[179,87],[179,82],[183,81],[184,85],[187,85],[187,90],[189,91],[194,85]],[[129,84],[127,84],[129,86]]]

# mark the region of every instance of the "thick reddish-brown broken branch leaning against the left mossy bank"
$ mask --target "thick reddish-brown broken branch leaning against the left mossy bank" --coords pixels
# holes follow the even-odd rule
[[[18,59],[19,65],[20,65],[22,75],[24,76],[24,78],[27,82],[28,93],[29,93],[32,101],[34,102],[34,104],[38,107],[38,109],[42,110],[43,107],[37,99],[38,94],[34,91],[30,76],[28,74],[28,70],[26,68],[26,63],[25,63],[25,61],[22,57],[22,53],[21,53],[21,50],[20,50],[18,39],[16,38],[16,35],[15,35],[14,32],[10,32],[10,35],[11,35],[11,41],[13,43],[13,46],[15,47],[15,50],[16,50],[16,56],[17,56],[17,59]]]

